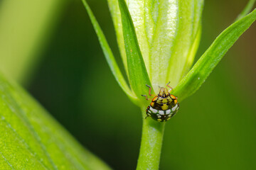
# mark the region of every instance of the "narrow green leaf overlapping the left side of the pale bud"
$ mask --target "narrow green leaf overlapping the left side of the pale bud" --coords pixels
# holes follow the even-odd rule
[[[146,72],[142,52],[139,49],[132,18],[124,0],[119,0],[119,9],[122,17],[129,81],[136,96],[142,98],[142,94],[148,93],[148,89],[145,85],[148,84],[151,86],[151,82],[149,81],[149,75]]]

